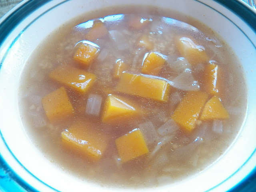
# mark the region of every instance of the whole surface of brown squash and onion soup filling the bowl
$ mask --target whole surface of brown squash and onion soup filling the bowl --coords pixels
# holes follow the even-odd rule
[[[186,16],[141,11],[70,21],[22,75],[21,116],[35,145],[100,184],[159,186],[196,174],[230,146],[246,111],[243,71],[223,40]]]

